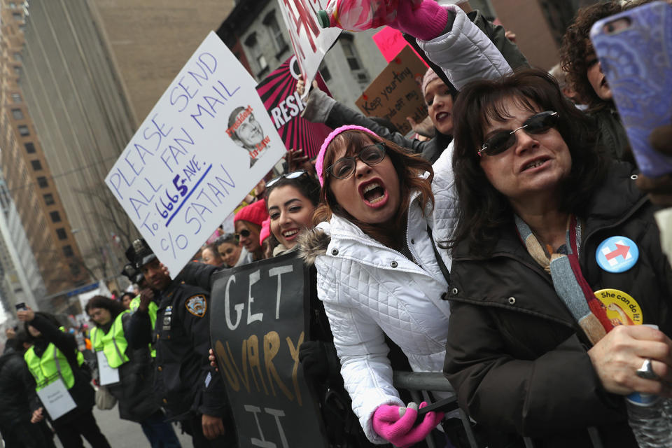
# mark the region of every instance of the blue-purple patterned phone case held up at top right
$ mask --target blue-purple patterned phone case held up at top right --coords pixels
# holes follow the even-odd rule
[[[605,25],[619,18],[629,27],[607,34]],[[654,128],[672,124],[672,6],[656,1],[598,20],[590,37],[639,169],[650,177],[672,173],[672,157],[648,141]]]

